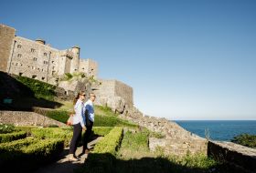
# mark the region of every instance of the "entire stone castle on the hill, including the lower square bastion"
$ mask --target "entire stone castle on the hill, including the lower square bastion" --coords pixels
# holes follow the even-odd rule
[[[80,58],[80,47],[59,50],[46,45],[42,39],[29,40],[16,36],[16,29],[0,24],[0,71],[17,76],[27,76],[57,85],[59,76],[81,72],[97,78],[98,64],[91,59]],[[78,90],[93,91],[98,97],[96,104],[112,107],[123,112],[124,107],[133,107],[133,87],[117,80],[101,79],[101,85],[88,86],[84,82],[59,82],[65,93]]]

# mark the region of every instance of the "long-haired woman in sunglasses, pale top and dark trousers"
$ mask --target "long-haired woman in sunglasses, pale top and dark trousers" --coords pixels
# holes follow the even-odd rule
[[[84,114],[83,114],[83,102],[85,100],[85,92],[80,91],[77,97],[74,98],[74,110],[75,115],[73,117],[73,137],[69,147],[69,161],[77,161],[76,150],[81,137],[81,131],[85,130]]]

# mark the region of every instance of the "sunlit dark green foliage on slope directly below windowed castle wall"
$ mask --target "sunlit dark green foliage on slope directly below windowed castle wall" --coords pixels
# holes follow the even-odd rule
[[[28,78],[26,76],[16,76],[16,80],[29,87],[35,94],[35,97],[42,97],[48,100],[53,100],[56,96],[55,88],[48,83],[41,82],[36,79]]]

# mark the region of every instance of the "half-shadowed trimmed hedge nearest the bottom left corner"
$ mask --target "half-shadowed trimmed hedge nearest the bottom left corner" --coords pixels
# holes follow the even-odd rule
[[[63,148],[64,140],[54,138],[39,140],[27,137],[0,144],[0,168],[10,172],[31,171],[58,157]]]

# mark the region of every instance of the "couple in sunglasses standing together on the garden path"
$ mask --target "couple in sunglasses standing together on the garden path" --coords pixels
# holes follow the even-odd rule
[[[88,101],[84,103],[85,98],[86,94],[84,91],[80,91],[77,97],[74,98],[75,115],[73,116],[73,137],[69,147],[69,161],[77,161],[79,159],[75,153],[81,138],[81,132],[84,130],[86,131],[82,138],[83,148],[79,156],[89,153],[89,148],[87,145],[94,122],[93,102],[96,96],[91,93]]]

